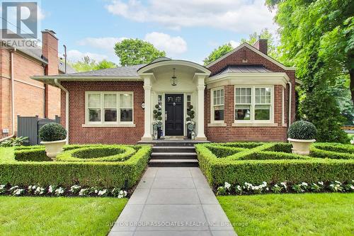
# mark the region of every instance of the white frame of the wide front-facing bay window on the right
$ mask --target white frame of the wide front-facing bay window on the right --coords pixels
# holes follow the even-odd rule
[[[251,88],[251,120],[235,120],[236,116],[236,88]],[[255,120],[254,108],[256,105],[256,89],[270,88],[270,119],[269,120]],[[267,104],[268,105],[268,104]],[[234,86],[234,124],[270,124],[274,123],[274,85],[235,85]],[[232,125],[237,126],[237,125]]]

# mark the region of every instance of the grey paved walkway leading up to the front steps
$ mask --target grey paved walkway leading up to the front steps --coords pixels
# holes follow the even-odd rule
[[[149,167],[109,235],[236,233],[198,167]]]

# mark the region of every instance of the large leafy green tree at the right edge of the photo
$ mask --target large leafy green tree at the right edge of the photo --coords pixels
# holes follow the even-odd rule
[[[345,119],[333,96],[333,86],[343,74],[350,75],[350,87],[354,86],[353,3],[266,0],[271,9],[277,9],[282,60],[295,64],[297,77],[302,80],[299,113],[316,125],[321,142],[348,142],[341,130]]]

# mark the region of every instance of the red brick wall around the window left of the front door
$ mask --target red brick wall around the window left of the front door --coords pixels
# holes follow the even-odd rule
[[[69,91],[69,143],[134,144],[144,135],[144,82],[62,82]],[[134,128],[82,127],[85,123],[85,91],[133,91]],[[65,125],[65,93],[61,96],[61,122]]]

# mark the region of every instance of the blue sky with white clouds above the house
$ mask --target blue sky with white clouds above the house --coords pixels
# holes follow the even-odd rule
[[[139,38],[167,57],[202,64],[219,45],[275,32],[274,14],[264,0],[42,0],[40,28],[57,33],[59,54],[67,45],[71,61],[89,55],[118,64],[115,43]]]

